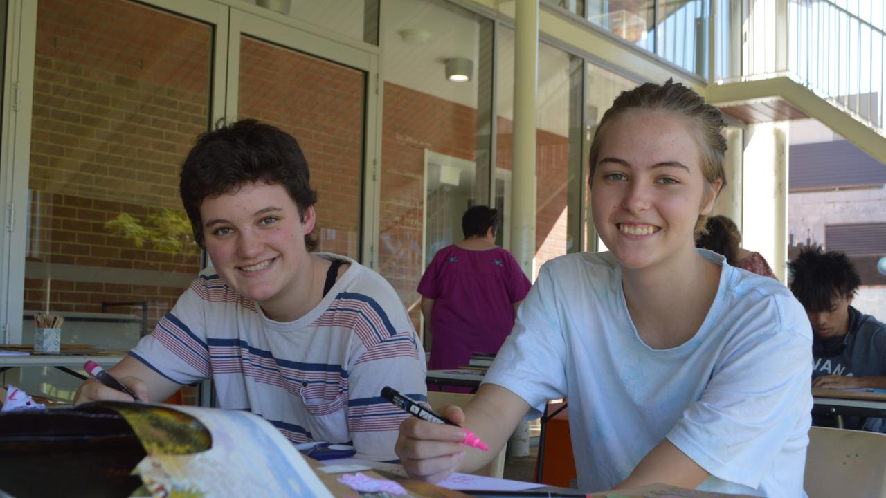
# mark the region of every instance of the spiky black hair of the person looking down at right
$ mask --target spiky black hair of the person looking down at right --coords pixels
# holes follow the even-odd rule
[[[846,254],[812,245],[788,263],[790,291],[809,313],[830,311],[835,299],[855,296],[861,277]]]

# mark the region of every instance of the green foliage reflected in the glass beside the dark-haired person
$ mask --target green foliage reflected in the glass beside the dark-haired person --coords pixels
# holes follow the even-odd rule
[[[150,242],[155,251],[162,253],[197,253],[198,247],[191,237],[190,220],[184,211],[160,207],[149,214],[144,223],[135,216],[120,213],[105,222],[105,230],[131,240],[136,247]]]

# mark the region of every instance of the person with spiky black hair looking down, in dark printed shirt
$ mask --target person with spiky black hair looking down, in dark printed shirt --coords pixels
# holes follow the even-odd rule
[[[789,263],[790,290],[812,324],[812,387],[886,389],[886,323],[851,307],[861,278],[844,253],[812,246]],[[813,417],[813,424],[828,424]],[[861,429],[853,417],[846,428]],[[886,432],[882,418],[864,429]]]

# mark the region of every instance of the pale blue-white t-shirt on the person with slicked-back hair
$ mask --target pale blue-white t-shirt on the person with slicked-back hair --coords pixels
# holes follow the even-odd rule
[[[530,417],[568,397],[581,489],[610,489],[667,438],[711,473],[700,489],[804,496],[809,320],[778,281],[700,253],[723,266],[717,297],[670,349],[641,341],[610,253],[548,261],[485,382],[517,393]]]

